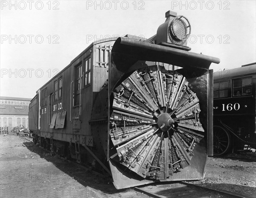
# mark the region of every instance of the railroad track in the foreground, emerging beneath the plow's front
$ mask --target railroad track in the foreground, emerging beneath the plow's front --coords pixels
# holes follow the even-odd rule
[[[208,187],[202,187],[188,182],[165,182],[144,185],[142,187],[134,187],[134,190],[144,193],[154,198],[246,198],[244,195],[228,192],[224,190],[215,190]]]

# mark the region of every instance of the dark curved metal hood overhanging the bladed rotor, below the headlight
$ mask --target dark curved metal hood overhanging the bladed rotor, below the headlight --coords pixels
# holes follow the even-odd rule
[[[215,57],[133,40],[128,37],[119,37],[114,43],[111,53],[116,68],[122,72],[138,69],[132,67],[132,65],[139,60],[165,62],[183,68],[204,69],[209,69],[212,62],[217,64],[220,62],[220,59]]]

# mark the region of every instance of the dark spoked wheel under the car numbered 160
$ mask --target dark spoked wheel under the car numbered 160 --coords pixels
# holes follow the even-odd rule
[[[223,127],[213,126],[213,155],[221,156],[230,149],[230,134]]]

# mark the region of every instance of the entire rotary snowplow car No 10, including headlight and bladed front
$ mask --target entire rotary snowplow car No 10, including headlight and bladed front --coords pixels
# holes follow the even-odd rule
[[[189,21],[168,11],[148,40],[93,42],[37,91],[29,107],[35,143],[109,173],[117,189],[204,178],[209,66],[220,61],[189,52],[189,34]]]

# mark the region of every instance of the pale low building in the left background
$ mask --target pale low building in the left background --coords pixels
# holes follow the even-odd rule
[[[30,98],[0,96],[0,127],[12,130],[22,124],[28,128],[30,101]]]

